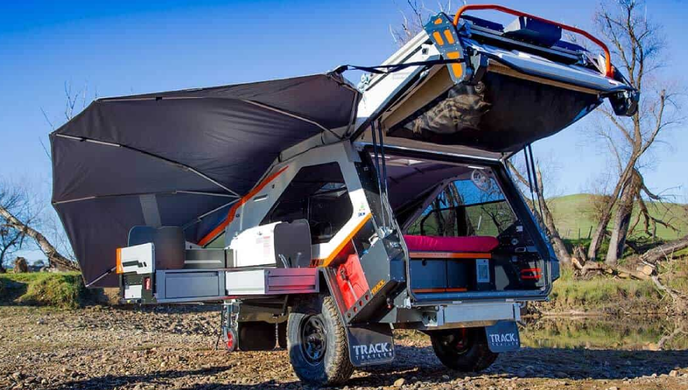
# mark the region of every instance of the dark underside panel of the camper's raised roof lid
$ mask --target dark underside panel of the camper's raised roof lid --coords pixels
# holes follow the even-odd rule
[[[439,96],[438,85],[444,86]],[[602,103],[600,93],[497,72],[487,72],[478,86],[454,85],[446,67],[413,98],[423,93],[430,103],[417,107],[409,99],[385,119],[388,136],[506,154],[556,134]]]

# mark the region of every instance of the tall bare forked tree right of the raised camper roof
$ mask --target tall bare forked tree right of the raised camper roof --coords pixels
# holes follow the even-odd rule
[[[595,15],[598,30],[614,49],[615,63],[628,74],[630,84],[641,92],[639,110],[633,117],[616,117],[606,106],[597,110],[598,115],[607,119],[607,126],[599,126],[596,133],[611,150],[618,181],[600,209],[588,258],[596,259],[607,226],[614,218],[606,257],[610,265],[616,264],[623,253],[635,200],[642,200],[643,194],[654,195],[643,184],[641,157],[662,131],[682,121],[677,110],[677,89],[669,84],[662,85],[655,77],[665,45],[661,28],[654,25],[644,11],[640,0],[617,0],[611,8],[602,4]],[[613,213],[615,206],[617,212]],[[649,213],[642,214],[649,218]]]

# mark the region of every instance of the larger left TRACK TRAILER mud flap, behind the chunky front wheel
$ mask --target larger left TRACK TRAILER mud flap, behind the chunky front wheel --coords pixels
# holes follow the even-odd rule
[[[390,363],[394,360],[394,337],[388,324],[347,327],[349,358],[355,367]]]

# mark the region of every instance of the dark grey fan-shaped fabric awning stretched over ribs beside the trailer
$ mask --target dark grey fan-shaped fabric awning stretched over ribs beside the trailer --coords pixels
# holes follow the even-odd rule
[[[338,74],[95,100],[51,134],[53,204],[84,280],[114,266],[132,226],[198,242],[279,152],[348,126],[358,100]]]

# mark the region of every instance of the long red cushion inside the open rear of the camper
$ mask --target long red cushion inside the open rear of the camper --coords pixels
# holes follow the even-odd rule
[[[404,235],[409,251],[416,252],[490,252],[499,245],[494,237],[439,237],[436,235]]]

